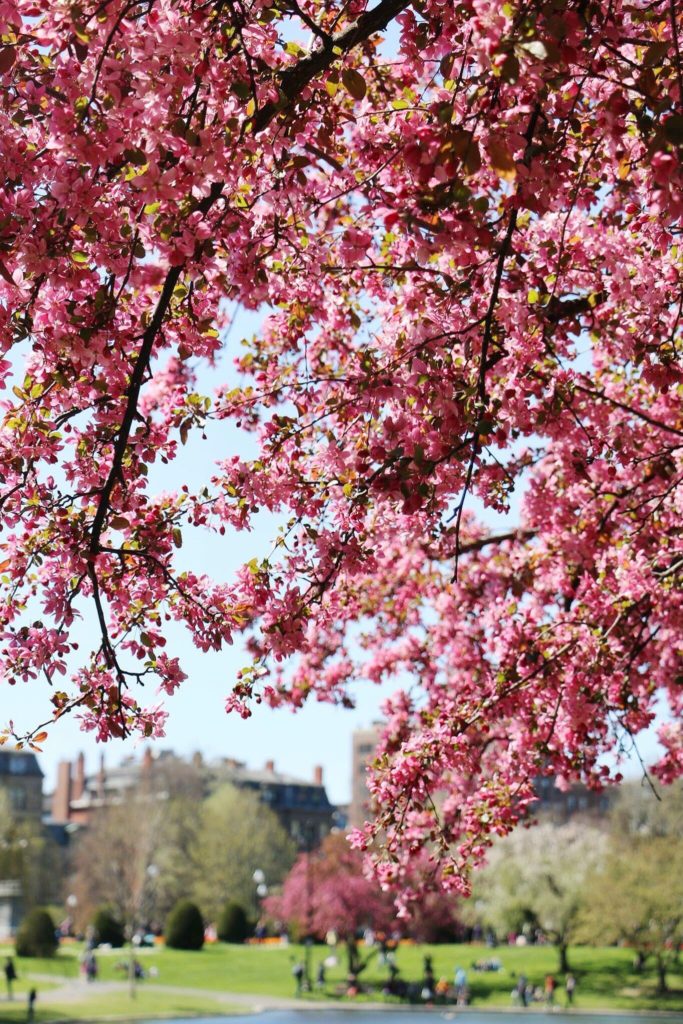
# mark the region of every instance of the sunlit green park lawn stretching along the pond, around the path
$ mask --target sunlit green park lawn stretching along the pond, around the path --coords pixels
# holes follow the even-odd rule
[[[361,947],[361,951],[365,950]],[[2,955],[0,949],[0,956]],[[315,946],[311,950],[312,973],[330,950]],[[158,975],[147,978],[138,988],[139,996],[132,1002],[124,991],[97,994],[97,985],[87,989],[87,998],[73,1005],[50,1002],[50,985],[62,979],[74,979],[79,974],[79,947],[65,947],[51,961],[15,961],[19,982],[14,1002],[0,1001],[0,1022],[25,1019],[26,991],[31,975],[46,976],[46,980],[36,983],[39,990],[36,1006],[37,1020],[93,1020],[101,1016],[178,1016],[204,1012],[225,1014],[228,1008],[211,997],[211,993],[256,993],[291,997],[294,995],[292,964],[303,958],[301,946],[232,946],[216,944],[199,952],[176,949],[140,950],[136,955],[145,969],[155,967]],[[510,992],[516,977],[524,973],[531,984],[543,986],[545,976],[555,974],[560,982],[559,999],[562,1002],[562,981],[557,971],[557,954],[549,946],[510,947],[500,946],[496,950],[483,946],[400,946],[397,966],[407,981],[419,981],[423,975],[423,961],[429,953],[433,959],[436,978],[453,980],[456,966],[462,965],[468,972],[471,1002],[474,1006],[509,1007]],[[125,950],[97,951],[99,978],[103,981],[125,980],[125,973],[118,965],[125,963]],[[488,956],[498,956],[504,970],[499,973],[480,974],[472,970],[472,963]],[[343,947],[338,950],[339,965],[327,974],[327,997],[333,1004],[337,992],[344,987],[346,977]],[[683,1011],[683,966],[679,973],[669,976],[672,992],[658,996],[655,992],[655,976],[652,970],[641,974],[633,971],[633,950],[593,949],[577,947],[570,950],[569,961],[578,978],[575,1006],[581,1010],[670,1010]],[[386,969],[380,967],[376,958],[371,961],[362,973],[362,984],[372,988],[370,994],[359,998],[381,999],[381,988],[386,980]],[[49,979],[49,980],[47,980]],[[198,989],[197,996],[173,995],[156,986],[175,986]],[[1,989],[0,989],[1,990]],[[202,992],[201,990],[204,990]],[[312,998],[321,998],[314,992]]]

